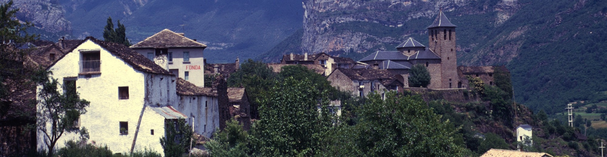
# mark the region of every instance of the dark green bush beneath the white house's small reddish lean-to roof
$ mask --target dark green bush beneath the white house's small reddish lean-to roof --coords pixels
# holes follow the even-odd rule
[[[183,153],[188,152],[194,132],[186,120],[183,118],[166,120],[164,128],[166,133],[160,138],[164,156],[180,157]]]

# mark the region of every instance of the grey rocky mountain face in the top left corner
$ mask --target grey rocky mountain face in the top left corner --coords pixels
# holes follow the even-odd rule
[[[7,0],[0,1],[2,3]],[[72,24],[64,18],[65,11],[58,0],[13,1],[13,8],[19,8],[17,19],[30,21],[35,27],[51,33],[72,31]]]

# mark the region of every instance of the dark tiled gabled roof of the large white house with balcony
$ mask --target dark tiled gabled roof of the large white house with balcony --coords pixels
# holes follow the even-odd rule
[[[71,50],[67,51],[67,53],[71,53],[75,48],[80,46],[86,40],[91,40],[92,42],[97,43],[98,45],[101,46],[101,48],[106,49],[107,51],[109,51],[109,53],[114,54],[114,56],[122,59],[124,62],[131,65],[133,67],[133,69],[137,69],[138,71],[143,71],[143,72],[151,72],[151,73],[155,73],[155,74],[173,75],[173,74],[171,74],[171,72],[158,66],[152,60],[149,60],[148,57],[145,57],[145,56],[143,56],[143,54],[139,54],[139,53],[133,51],[131,48],[128,48],[127,46],[124,46],[120,43],[113,43],[113,42],[106,42],[106,41],[98,40],[92,36],[86,37],[86,39],[81,40],[81,42],[78,43],[78,45],[74,46]],[[53,62],[49,66],[49,68],[51,66],[55,65],[55,63],[57,63],[59,60],[63,59],[63,57],[65,57],[65,56],[67,56],[67,55],[61,56],[59,59],[55,60],[55,62]]]

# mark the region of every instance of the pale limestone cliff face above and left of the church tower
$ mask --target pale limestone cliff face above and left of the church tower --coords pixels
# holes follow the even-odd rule
[[[304,0],[302,5],[302,52],[324,52],[331,55],[392,50],[391,45],[403,42],[407,36],[426,34],[426,27],[432,24],[432,19],[440,9],[446,11],[449,17],[497,11],[493,24],[499,25],[521,8],[518,0],[502,0],[497,4],[472,0]],[[410,23],[419,22],[419,19],[429,19],[429,22]],[[456,23],[458,22],[454,22]],[[406,30],[401,29],[403,31],[396,31],[396,34],[385,31],[399,30],[407,25],[410,26]]]

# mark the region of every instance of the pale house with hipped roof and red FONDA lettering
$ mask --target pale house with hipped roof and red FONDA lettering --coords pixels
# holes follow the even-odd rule
[[[196,86],[205,86],[203,51],[206,45],[196,39],[192,40],[183,33],[164,29],[132,45],[131,48],[149,60],[154,60],[155,56],[167,56],[169,71],[172,74]]]

